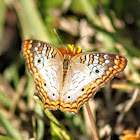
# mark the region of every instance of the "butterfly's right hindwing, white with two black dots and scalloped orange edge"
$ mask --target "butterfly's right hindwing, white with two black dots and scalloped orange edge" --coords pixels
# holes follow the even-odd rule
[[[93,97],[97,87],[92,83],[92,79],[83,71],[80,65],[71,64],[71,68],[67,72],[67,78],[64,82],[64,89],[61,95],[60,109],[75,114],[79,108]]]

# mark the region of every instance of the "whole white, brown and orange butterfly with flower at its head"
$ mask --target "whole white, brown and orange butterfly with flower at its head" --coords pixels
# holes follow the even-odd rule
[[[118,54],[82,53],[78,47],[75,51],[70,45],[56,48],[32,39],[23,41],[22,52],[44,109],[74,114],[127,65],[127,59]]]

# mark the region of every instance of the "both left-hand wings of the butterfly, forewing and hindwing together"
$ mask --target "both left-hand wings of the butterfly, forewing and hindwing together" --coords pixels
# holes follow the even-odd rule
[[[61,53],[53,45],[38,40],[25,40],[22,51],[44,108],[57,109],[62,84]]]

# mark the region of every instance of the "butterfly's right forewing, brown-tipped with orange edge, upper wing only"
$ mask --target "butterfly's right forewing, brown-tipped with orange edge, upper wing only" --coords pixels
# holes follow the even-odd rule
[[[98,86],[104,86],[127,65],[126,58],[113,53],[82,53],[73,57],[72,61],[86,65],[85,73]]]

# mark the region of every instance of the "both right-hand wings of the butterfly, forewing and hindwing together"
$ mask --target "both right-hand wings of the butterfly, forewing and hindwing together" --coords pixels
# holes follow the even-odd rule
[[[80,106],[93,97],[117,73],[127,60],[112,53],[80,53],[71,60],[60,109],[77,113]]]

